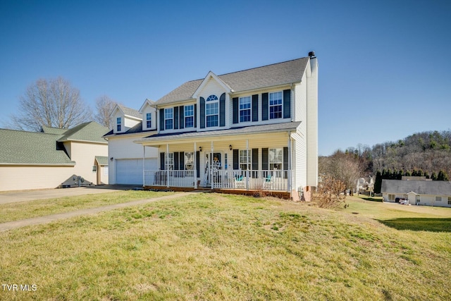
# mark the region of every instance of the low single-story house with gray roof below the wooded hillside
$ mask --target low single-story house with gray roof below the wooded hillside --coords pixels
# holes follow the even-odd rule
[[[410,204],[451,207],[451,183],[426,180],[382,180],[384,202],[397,197],[409,199]]]

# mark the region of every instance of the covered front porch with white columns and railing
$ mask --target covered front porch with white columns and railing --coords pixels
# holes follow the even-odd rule
[[[217,130],[214,135],[195,132],[138,140],[143,145],[143,158],[147,147],[159,149],[158,170],[145,169],[143,163],[144,188],[252,195],[261,191],[283,192],[283,197],[292,197],[293,193],[297,195],[290,135],[294,130],[252,135],[240,130]]]

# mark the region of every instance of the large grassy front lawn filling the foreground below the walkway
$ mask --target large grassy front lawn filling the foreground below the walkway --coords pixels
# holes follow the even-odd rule
[[[451,233],[374,217],[451,211],[349,203],[199,193],[7,231],[1,282],[37,290],[0,300],[450,300]]]

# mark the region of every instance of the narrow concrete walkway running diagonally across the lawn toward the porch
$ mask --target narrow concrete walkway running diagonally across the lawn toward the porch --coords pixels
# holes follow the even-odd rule
[[[120,208],[124,208],[124,207],[147,204],[147,203],[151,203],[151,202],[161,201],[163,199],[173,199],[175,197],[184,197],[187,195],[192,195],[193,193],[196,193],[196,192],[180,192],[180,193],[176,193],[175,195],[166,195],[164,197],[154,197],[152,199],[139,199],[137,201],[132,201],[132,202],[112,204],[112,205],[96,207],[96,208],[80,209],[80,210],[65,212],[65,213],[61,213],[61,214],[38,216],[38,217],[33,217],[31,219],[22,219],[20,221],[8,221],[6,223],[0,223],[0,232],[8,231],[8,230],[15,229],[15,228],[21,228],[21,227],[25,227],[25,226],[39,225],[42,223],[50,223],[52,221],[58,221],[61,219],[69,219],[74,216],[97,214],[97,213],[103,212],[103,211],[110,211],[113,209],[120,209]]]

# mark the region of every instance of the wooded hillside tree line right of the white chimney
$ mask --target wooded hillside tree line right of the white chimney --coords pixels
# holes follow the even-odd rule
[[[397,142],[373,147],[359,144],[344,152],[339,149],[330,156],[319,157],[319,173],[333,176],[348,189],[365,176],[376,176],[378,183],[383,178],[401,179],[402,176],[449,180],[451,131],[415,133]]]

